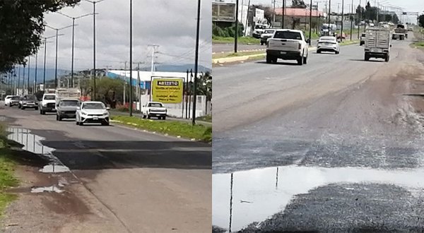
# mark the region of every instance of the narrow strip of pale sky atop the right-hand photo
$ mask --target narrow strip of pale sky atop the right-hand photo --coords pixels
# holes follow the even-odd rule
[[[242,0],[239,0],[242,1]],[[304,0],[306,4],[310,3],[310,0]],[[247,0],[244,1],[245,4],[247,4]],[[252,0],[250,1],[251,4],[266,4],[266,5],[271,5],[271,2],[273,2],[273,0]],[[325,5],[328,4],[328,0],[312,0],[313,3],[319,3],[319,9],[320,10],[324,10]],[[363,6],[365,6],[365,3],[367,1],[365,0],[353,0],[353,4],[355,6],[358,6],[359,3],[361,3]],[[281,7],[283,3],[283,0],[276,0],[276,7]],[[291,4],[291,0],[286,0],[286,3],[288,4],[288,6],[290,6]],[[339,12],[341,12],[341,3],[342,0],[331,0],[331,11],[337,12],[337,9],[339,9]],[[396,6],[396,7],[400,7],[400,8],[404,8],[404,11],[410,11],[410,12],[419,12],[422,13],[424,11],[424,4],[423,4],[423,0],[370,0],[370,4],[371,6],[374,6],[375,3],[379,3],[382,6]],[[345,11],[348,11],[347,8],[349,8],[352,4],[352,0],[344,0],[344,5],[345,5]],[[328,6],[328,5],[327,5]],[[409,20],[411,20],[411,23],[415,23],[416,22],[416,16],[413,17],[408,17]]]

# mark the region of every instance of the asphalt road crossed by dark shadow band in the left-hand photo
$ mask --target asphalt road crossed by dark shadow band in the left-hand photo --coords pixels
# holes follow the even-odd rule
[[[76,126],[31,109],[0,113],[45,138],[129,232],[211,232],[210,145],[121,126]]]

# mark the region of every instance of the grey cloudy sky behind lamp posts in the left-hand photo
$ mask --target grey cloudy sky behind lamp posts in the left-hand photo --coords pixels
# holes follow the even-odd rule
[[[129,0],[105,0],[96,4],[96,68],[129,67]],[[82,0],[74,8],[60,11],[71,17],[93,13],[93,4]],[[195,0],[133,0],[133,61],[151,64],[153,49],[148,44],[157,44],[155,54],[159,64],[194,64],[196,44]],[[199,42],[199,64],[211,68],[211,1],[201,1],[201,25]],[[47,13],[47,25],[64,28],[72,25],[71,18],[59,13]],[[93,16],[76,20],[74,69],[93,68]],[[56,31],[46,28],[45,37]],[[60,30],[58,68],[71,70],[72,28]],[[47,66],[54,68],[55,37],[47,43]],[[42,64],[44,49],[38,54]],[[33,58],[31,58],[34,61]],[[33,66],[33,64],[31,64]],[[133,65],[134,66],[134,65]]]

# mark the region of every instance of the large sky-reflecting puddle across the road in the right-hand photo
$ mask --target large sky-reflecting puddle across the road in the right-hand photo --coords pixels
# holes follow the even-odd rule
[[[212,224],[232,232],[285,209],[295,195],[327,184],[394,184],[424,188],[424,169],[268,167],[212,176]],[[349,188],[347,188],[349,189]]]

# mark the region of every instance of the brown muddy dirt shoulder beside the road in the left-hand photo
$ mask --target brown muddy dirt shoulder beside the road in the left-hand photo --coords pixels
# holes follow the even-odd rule
[[[6,209],[2,232],[126,232],[71,174],[39,172],[43,161],[37,155],[23,151],[14,154],[37,165],[16,167],[20,186],[9,192],[16,193],[18,200]],[[31,192],[40,187],[50,188]],[[58,189],[63,192],[52,191]]]

